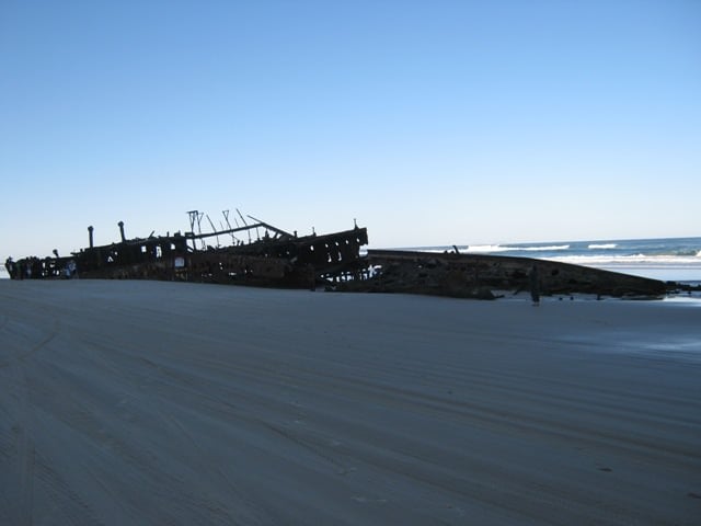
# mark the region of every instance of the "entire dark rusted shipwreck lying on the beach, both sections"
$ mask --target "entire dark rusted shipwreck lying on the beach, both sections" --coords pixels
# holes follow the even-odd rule
[[[658,298],[678,290],[676,283],[637,277],[567,263],[486,254],[365,250],[366,228],[308,236],[288,232],[237,210],[226,228],[208,216],[188,211],[189,230],[128,239],[119,221],[119,240],[89,245],[68,256],[24,258],[5,262],[13,279],[162,279],[338,291],[405,293],[494,299],[528,290],[538,270],[540,294],[575,293]],[[207,217],[211,231],[202,230]],[[223,227],[223,225],[222,225]],[[221,238],[227,241],[221,244]]]

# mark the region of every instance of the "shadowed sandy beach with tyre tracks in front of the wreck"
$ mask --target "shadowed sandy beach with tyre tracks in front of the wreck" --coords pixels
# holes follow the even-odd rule
[[[0,281],[0,524],[698,525],[701,308]]]

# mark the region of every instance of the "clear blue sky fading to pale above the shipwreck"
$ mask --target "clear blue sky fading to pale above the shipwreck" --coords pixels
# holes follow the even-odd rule
[[[0,258],[240,208],[371,247],[701,235],[701,2],[0,2]]]

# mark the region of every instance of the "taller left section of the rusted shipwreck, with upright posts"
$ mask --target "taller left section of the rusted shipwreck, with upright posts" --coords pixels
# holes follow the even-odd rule
[[[105,279],[165,279],[307,288],[320,281],[358,278],[365,267],[360,248],[368,242],[367,230],[350,230],[297,237],[262,221],[209,233],[126,239],[90,247],[59,258],[8,260],[14,279],[66,277]],[[261,235],[262,232],[262,235]],[[243,235],[227,247],[208,247],[207,238]],[[197,244],[202,242],[202,248]]]

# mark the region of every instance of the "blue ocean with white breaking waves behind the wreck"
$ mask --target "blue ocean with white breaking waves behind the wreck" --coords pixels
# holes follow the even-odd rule
[[[462,254],[514,255],[593,266],[654,279],[701,284],[701,238],[547,241],[457,245]],[[407,249],[409,250],[409,249]],[[411,250],[455,251],[452,245]]]

